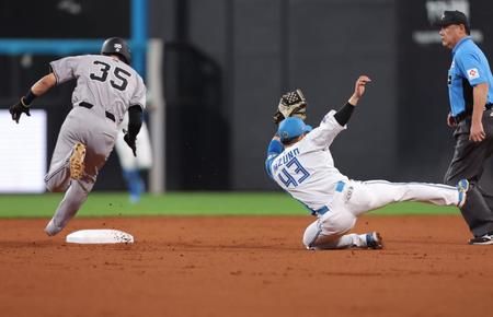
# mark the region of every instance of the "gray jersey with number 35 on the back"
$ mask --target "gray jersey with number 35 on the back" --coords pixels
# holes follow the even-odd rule
[[[128,64],[103,55],[66,57],[50,62],[57,83],[77,79],[72,104],[94,105],[104,116],[113,114],[122,122],[129,106],[146,106],[146,86],[141,77]]]

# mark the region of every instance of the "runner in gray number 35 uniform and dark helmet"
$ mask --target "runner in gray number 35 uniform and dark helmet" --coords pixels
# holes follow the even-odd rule
[[[53,219],[46,225],[49,235],[59,233],[81,208],[113,151],[118,125],[128,111],[125,142],[136,153],[136,138],[142,125],[146,86],[129,66],[130,49],[118,37],[104,42],[101,55],[61,58],[50,62],[51,72],[37,81],[19,103],[10,107],[12,119],[30,116],[31,103],[51,87],[76,79],[73,108],[58,134],[48,174],[49,191],[65,191]]]

